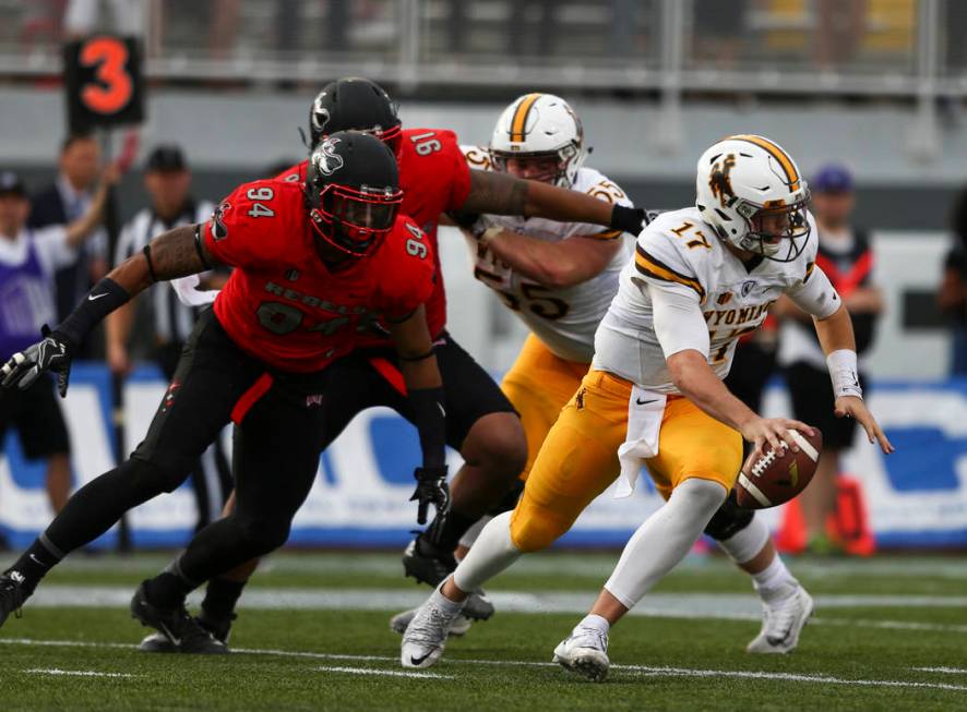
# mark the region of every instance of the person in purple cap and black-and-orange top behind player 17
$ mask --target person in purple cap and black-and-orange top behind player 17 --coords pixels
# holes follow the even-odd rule
[[[883,311],[880,288],[872,282],[873,253],[865,230],[850,222],[856,198],[852,177],[846,168],[829,165],[819,171],[810,185],[812,212],[819,240],[816,264],[836,287],[852,317],[857,353],[860,354],[860,385],[865,388],[862,353],[873,341],[874,327]],[[856,421],[834,417],[833,387],[823,351],[811,326],[811,317],[790,300],[776,304],[775,314],[785,318],[779,341],[779,364],[792,399],[795,418],[823,432],[812,483],[799,495],[805,521],[808,547],[813,553],[835,553],[841,547],[826,532],[826,521],[836,512],[836,475],[839,457],[852,445]]]

